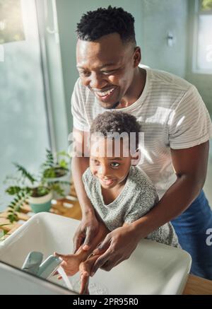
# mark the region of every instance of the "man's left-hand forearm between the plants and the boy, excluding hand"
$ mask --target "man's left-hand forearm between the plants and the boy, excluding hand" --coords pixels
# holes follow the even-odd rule
[[[71,161],[71,170],[73,175],[73,184],[76,190],[78,201],[81,205],[81,210],[83,215],[85,214],[95,214],[90,199],[86,194],[85,187],[83,185],[82,175],[86,168],[89,166],[89,158],[84,157],[74,157]]]

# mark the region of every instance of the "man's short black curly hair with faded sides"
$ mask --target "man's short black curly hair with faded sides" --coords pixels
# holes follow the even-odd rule
[[[108,6],[88,11],[77,24],[76,33],[78,39],[90,42],[103,35],[119,33],[123,43],[132,42],[136,45],[134,17],[123,8]]]

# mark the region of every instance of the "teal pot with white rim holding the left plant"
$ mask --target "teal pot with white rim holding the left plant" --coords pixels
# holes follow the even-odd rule
[[[28,202],[30,204],[31,209],[35,214],[42,211],[49,211],[51,208],[52,201],[52,192],[45,195],[44,197],[30,197]]]

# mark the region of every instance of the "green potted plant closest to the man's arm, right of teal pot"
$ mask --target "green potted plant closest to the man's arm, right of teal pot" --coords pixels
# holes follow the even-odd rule
[[[70,156],[66,151],[52,153],[46,150],[46,160],[42,164],[42,177],[48,184],[54,184],[53,198],[65,197],[70,192]],[[59,186],[58,186],[59,185]]]

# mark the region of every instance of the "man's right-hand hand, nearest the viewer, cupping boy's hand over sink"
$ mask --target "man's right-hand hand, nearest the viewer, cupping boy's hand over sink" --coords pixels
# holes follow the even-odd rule
[[[127,260],[136,249],[139,240],[139,235],[131,225],[116,228],[107,234],[105,240],[93,251],[95,255],[100,254],[100,257],[93,265],[91,276],[95,274],[98,268],[105,269],[108,272],[117,264]]]

